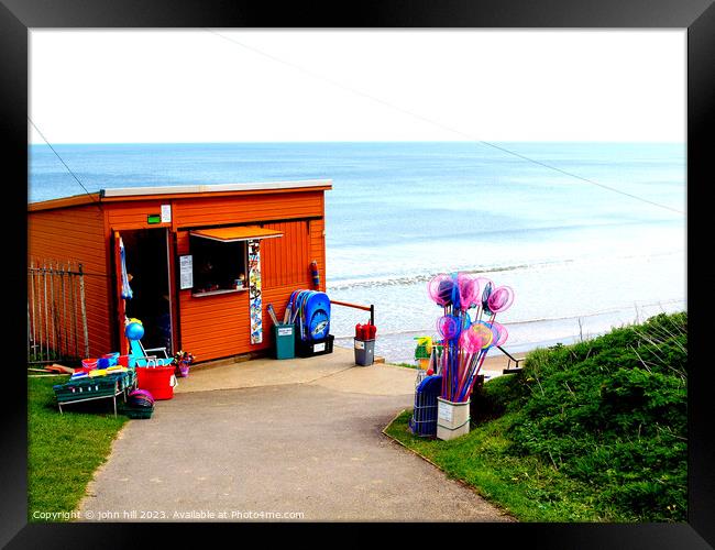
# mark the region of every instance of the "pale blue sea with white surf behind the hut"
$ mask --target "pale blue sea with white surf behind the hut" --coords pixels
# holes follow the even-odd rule
[[[437,336],[442,309],[430,301],[427,284],[439,273],[468,272],[514,289],[513,306],[496,319],[508,330],[503,348],[509,353],[686,309],[685,144],[494,145],[54,148],[89,191],[331,179],[320,275],[331,299],[374,305],[375,353],[391,362],[413,363],[415,339]],[[29,151],[29,201],[85,193],[47,145]],[[367,318],[333,305],[336,344],[352,348],[355,324]]]

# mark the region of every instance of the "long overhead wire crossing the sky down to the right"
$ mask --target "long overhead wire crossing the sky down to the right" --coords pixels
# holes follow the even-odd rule
[[[504,147],[503,145],[497,145],[496,143],[492,143],[492,142],[488,142],[488,141],[480,140],[479,138],[476,138],[476,136],[474,136],[474,135],[471,135],[471,134],[469,134],[469,133],[466,133],[466,132],[463,132],[463,131],[458,130],[458,129],[455,129],[455,128],[452,128],[452,127],[449,127],[449,125],[447,125],[447,124],[443,124],[442,122],[439,122],[439,121],[437,121],[437,120],[433,120],[433,119],[431,119],[431,118],[429,118],[429,117],[425,117],[425,116],[422,116],[422,114],[416,113],[416,112],[414,112],[414,111],[410,111],[410,110],[408,110],[408,109],[405,109],[405,108],[403,108],[403,107],[399,107],[399,106],[397,106],[397,105],[394,105],[394,103],[392,103],[392,102],[389,102],[389,101],[385,101],[384,99],[378,98],[378,97],[376,97],[376,96],[373,96],[372,94],[367,94],[367,92],[365,92],[365,91],[362,91],[362,90],[359,90],[359,89],[352,88],[352,87],[350,87],[350,86],[345,86],[344,84],[339,82],[338,80],[333,80],[332,78],[326,77],[324,75],[320,75],[320,74],[315,73],[315,72],[312,72],[312,70],[310,70],[310,69],[307,69],[307,68],[305,68],[305,67],[302,67],[302,66],[300,66],[300,65],[296,65],[295,63],[287,62],[287,61],[285,61],[285,59],[279,58],[279,57],[276,57],[275,55],[272,55],[272,54],[268,54],[268,53],[266,53],[266,52],[263,52],[263,51],[261,51],[261,50],[258,50],[258,48],[256,48],[256,47],[253,47],[253,46],[250,46],[250,45],[248,45],[248,44],[244,44],[243,42],[239,42],[239,41],[237,41],[237,40],[234,40],[234,38],[232,38],[232,37],[230,37],[230,36],[226,36],[224,34],[221,34],[221,33],[219,33],[219,32],[217,32],[217,31],[215,31],[215,30],[212,30],[212,29],[206,29],[206,28],[204,28],[204,30],[207,31],[207,32],[209,32],[209,33],[212,33],[212,34],[215,34],[215,35],[217,35],[217,36],[219,36],[219,37],[221,37],[221,38],[228,41],[228,42],[231,42],[231,43],[233,43],[233,44],[235,44],[235,45],[238,45],[238,46],[241,46],[241,47],[243,47],[244,50],[248,50],[248,51],[250,51],[250,52],[253,52],[254,54],[261,55],[261,56],[266,57],[266,58],[268,58],[268,59],[272,59],[272,61],[274,61],[274,62],[276,62],[276,63],[280,63],[280,64],[283,64],[283,65],[286,65],[286,66],[288,66],[288,67],[292,67],[292,68],[294,68],[294,69],[296,69],[296,70],[299,70],[299,72],[301,72],[301,73],[305,73],[306,75],[311,76],[312,78],[317,78],[317,79],[323,80],[323,81],[326,81],[326,82],[328,82],[328,84],[330,84],[330,85],[332,85],[332,86],[334,86],[334,87],[337,87],[337,88],[340,88],[340,89],[343,89],[343,90],[345,90],[345,91],[349,91],[349,92],[351,92],[351,94],[353,94],[353,95],[356,95],[356,96],[360,96],[360,97],[363,97],[363,98],[370,99],[370,100],[372,100],[372,101],[374,101],[374,102],[376,102],[376,103],[380,103],[380,105],[385,106],[385,107],[387,107],[387,108],[389,108],[389,109],[393,109],[393,110],[399,111],[399,112],[402,112],[402,113],[404,113],[404,114],[408,114],[408,116],[410,116],[410,117],[414,117],[414,118],[416,118],[416,119],[419,119],[419,120],[421,120],[421,121],[424,121],[424,122],[427,122],[428,124],[431,124],[431,125],[438,127],[438,128],[440,128],[440,129],[442,129],[442,130],[446,130],[446,131],[448,131],[448,132],[450,132],[450,133],[453,133],[453,134],[455,134],[455,135],[459,135],[459,136],[461,136],[461,138],[468,139],[468,140],[470,140],[470,141],[474,141],[474,142],[476,142],[476,143],[481,143],[482,145],[485,145],[485,146],[488,146],[488,147],[492,147],[492,148],[498,150],[498,151],[501,151],[501,152],[503,152],[503,153],[509,154],[509,155],[515,156],[515,157],[517,157],[517,158],[521,158],[522,161],[527,161],[527,162],[534,163],[534,164],[536,164],[536,165],[538,165],[538,166],[542,166],[542,167],[544,167],[544,168],[548,168],[548,169],[551,169],[551,170],[558,172],[558,173],[560,173],[560,174],[562,174],[562,175],[564,175],[564,176],[573,177],[573,178],[579,179],[579,180],[581,180],[581,182],[585,182],[585,183],[587,183],[587,184],[591,184],[591,185],[594,185],[594,186],[601,187],[601,188],[603,188],[603,189],[606,189],[606,190],[609,190],[609,191],[616,193],[616,194],[622,195],[622,196],[624,196],[624,197],[629,197],[629,198],[631,198],[631,199],[639,200],[639,201],[641,201],[641,202],[646,202],[646,204],[648,204],[648,205],[651,205],[651,206],[654,206],[654,207],[658,207],[658,208],[662,208],[662,209],[664,209],[664,210],[669,210],[669,211],[671,211],[671,212],[675,212],[675,213],[679,213],[679,215],[682,215],[682,216],[685,215],[684,211],[679,210],[679,209],[676,209],[676,208],[669,207],[668,205],[662,205],[662,204],[660,204],[660,202],[656,202],[656,201],[650,200],[650,199],[647,199],[647,198],[645,198],[645,197],[640,197],[640,196],[638,196],[638,195],[632,195],[632,194],[630,194],[630,193],[627,193],[627,191],[624,191],[624,190],[620,190],[620,189],[616,189],[615,187],[612,187],[612,186],[609,186],[609,185],[605,185],[605,184],[602,184],[602,183],[598,183],[598,182],[594,182],[593,179],[590,179],[590,178],[586,178],[586,177],[580,176],[580,175],[578,175],[578,174],[573,174],[573,173],[571,173],[571,172],[568,172],[568,170],[564,170],[564,169],[562,169],[562,168],[559,168],[558,166],[553,166],[553,165],[548,164],[548,163],[544,163],[544,162],[542,162],[542,161],[537,161],[536,158],[531,158],[531,157],[529,157],[529,156],[522,155],[522,154],[517,153],[517,152],[515,152],[515,151],[512,151],[512,150],[509,150],[509,148],[507,148],[507,147]]]

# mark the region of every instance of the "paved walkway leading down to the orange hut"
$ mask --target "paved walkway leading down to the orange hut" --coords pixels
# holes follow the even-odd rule
[[[122,430],[82,517],[509,520],[382,433],[411,406],[414,371],[351,365],[352,351],[336,349],[196,369],[151,420]]]

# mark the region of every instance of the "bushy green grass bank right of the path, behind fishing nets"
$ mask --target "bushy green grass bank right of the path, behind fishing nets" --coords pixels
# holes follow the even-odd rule
[[[487,382],[472,431],[386,430],[522,521],[686,520],[686,314],[536,350]]]

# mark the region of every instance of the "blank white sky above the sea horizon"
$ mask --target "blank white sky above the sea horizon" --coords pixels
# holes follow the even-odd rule
[[[51,143],[684,142],[685,40],[685,30],[32,30],[30,116]]]

